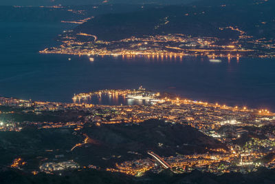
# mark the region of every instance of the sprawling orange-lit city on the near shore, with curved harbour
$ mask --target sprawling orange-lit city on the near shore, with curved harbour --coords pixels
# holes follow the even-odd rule
[[[94,105],[85,102],[91,96],[96,95],[100,99],[104,94],[110,98],[122,96],[124,99],[147,101],[147,103],[141,103],[141,105]],[[72,149],[67,151],[75,152],[79,147],[85,149],[89,145],[98,144],[98,141],[83,134],[87,125],[96,127],[101,125],[139,125],[144,121],[157,119],[170,124],[170,126],[193,127],[204,135],[223,143],[225,147],[205,147],[205,152],[201,154],[178,153],[168,157],[159,156],[153,150],[147,150],[148,154],[146,155],[127,152],[126,154],[140,156],[140,159],[115,163],[114,167],[105,168],[93,163],[80,165],[72,158],[69,161],[54,162],[66,158],[64,154],[56,154],[53,161],[46,159],[47,162],[42,162],[39,166],[40,169],[37,168],[35,173],[92,168],[122,172],[133,176],[142,176],[149,170],[158,173],[165,169],[175,173],[201,170],[223,174],[225,172],[248,173],[256,171],[259,167],[275,167],[275,131],[272,129],[275,123],[275,114],[267,109],[230,107],[219,103],[182,99],[176,95],[152,92],[142,87],[137,90],[101,90],[74,94],[72,100],[73,103],[57,103],[0,97],[0,131],[21,132],[26,125],[35,125],[39,130],[69,128],[73,135],[84,136],[83,142],[72,145]],[[71,119],[60,122],[15,121],[12,118],[3,120],[3,116],[13,116],[14,114],[25,114],[26,116],[65,114],[64,116],[71,116]],[[190,145],[186,144],[185,146]],[[157,147],[169,147],[169,145],[158,143]],[[120,157],[121,155],[113,155],[113,158],[119,159]],[[21,158],[14,158],[11,167],[23,168],[26,162]]]

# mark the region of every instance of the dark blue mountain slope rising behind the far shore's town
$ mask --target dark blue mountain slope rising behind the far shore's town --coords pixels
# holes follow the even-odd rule
[[[188,6],[104,14],[78,26],[75,32],[95,34],[107,41],[176,33],[234,39],[239,32],[220,29],[232,26],[254,37],[274,38],[274,7],[275,1],[263,0],[200,1]]]

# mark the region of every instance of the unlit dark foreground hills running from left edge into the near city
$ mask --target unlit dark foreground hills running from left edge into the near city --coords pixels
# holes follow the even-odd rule
[[[83,143],[85,135],[89,137]],[[74,145],[78,145],[72,150]],[[73,159],[83,166],[113,167],[115,163],[146,159],[149,150],[159,156],[205,153],[207,148],[225,145],[188,125],[150,120],[140,124],[86,124],[76,134],[74,127],[37,129],[23,127],[21,132],[0,132],[0,166],[10,165],[16,158],[28,163],[24,170],[36,170],[41,163],[63,154],[63,161]],[[50,151],[49,151],[50,150]],[[1,169],[0,167],[0,169]]]

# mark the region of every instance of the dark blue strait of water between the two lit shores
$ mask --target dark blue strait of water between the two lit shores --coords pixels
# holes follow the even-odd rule
[[[75,93],[143,85],[191,99],[275,111],[275,59],[210,63],[195,57],[95,57],[91,62],[88,57],[39,54],[69,27],[1,23],[0,95],[72,102]]]

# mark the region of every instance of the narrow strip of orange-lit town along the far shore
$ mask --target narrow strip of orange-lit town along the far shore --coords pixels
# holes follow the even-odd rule
[[[72,54],[88,56],[144,56],[164,60],[186,56],[217,58],[274,57],[274,40],[254,39],[238,28],[228,26],[220,30],[239,33],[237,39],[225,41],[217,37],[192,37],[185,34],[167,34],[131,37],[119,41],[101,41],[96,35],[67,30],[60,35],[58,47],[45,48],[41,54]]]

